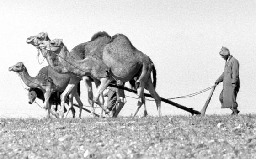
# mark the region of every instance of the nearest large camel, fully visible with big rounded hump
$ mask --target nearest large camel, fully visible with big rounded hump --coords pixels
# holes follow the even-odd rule
[[[138,90],[138,103],[134,116],[144,104],[144,88],[149,90],[149,93],[154,97],[158,115],[161,116],[161,99],[155,91],[155,66],[149,56],[137,50],[123,34],[116,34],[111,41],[101,47],[101,51],[91,52],[83,60],[76,60],[71,56],[62,39],[43,41],[39,48],[44,50],[42,51],[43,56],[46,57],[50,66],[59,66],[61,63],[66,70],[77,76],[91,76],[98,79],[101,84],[93,97],[93,101],[100,105],[105,113],[111,114],[112,112],[103,107],[99,101],[99,96],[108,84],[118,80],[121,82],[135,80]],[[151,72],[153,73],[154,83],[151,79]]]

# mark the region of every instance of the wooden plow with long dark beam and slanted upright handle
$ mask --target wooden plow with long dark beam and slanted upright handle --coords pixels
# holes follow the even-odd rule
[[[117,86],[117,85],[114,85],[114,84],[109,84],[108,86],[110,86],[110,87],[116,87],[116,88],[119,88],[119,89],[123,89],[123,90],[126,90],[126,91],[128,91],[128,92],[137,93],[137,91],[135,91],[135,90],[133,90],[133,89],[129,89],[129,88],[122,87],[122,86]],[[203,106],[201,112],[199,112],[199,111],[197,111],[197,110],[194,110],[193,108],[187,108],[187,107],[185,107],[185,106],[183,106],[183,105],[181,105],[181,104],[172,102],[171,100],[168,100],[168,99],[165,99],[165,98],[162,98],[162,97],[161,97],[161,101],[163,101],[163,102],[165,102],[165,103],[168,103],[168,104],[171,104],[171,105],[173,105],[173,106],[175,106],[175,107],[177,107],[177,108],[180,108],[180,109],[182,109],[182,110],[185,110],[185,111],[191,113],[192,115],[196,114],[196,115],[204,116],[205,111],[206,111],[206,108],[207,108],[208,104],[210,103],[210,100],[211,100],[211,97],[212,97],[212,95],[213,95],[213,91],[214,91],[215,87],[216,87],[216,85],[214,85],[214,86],[212,87],[212,91],[210,92],[210,95],[209,95],[209,97],[208,97],[208,99],[207,99],[205,105]],[[144,93],[144,96],[145,96],[145,97],[151,97],[151,98],[153,98],[153,97],[152,97],[150,94],[148,94],[148,93]]]

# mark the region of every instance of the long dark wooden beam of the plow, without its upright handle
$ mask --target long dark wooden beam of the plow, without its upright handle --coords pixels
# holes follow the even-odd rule
[[[128,88],[126,88],[126,87],[121,87],[121,86],[117,86],[117,85],[114,85],[114,84],[109,84],[109,86],[110,86],[110,87],[116,87],[116,88],[119,88],[119,89],[123,89],[123,90],[126,90],[126,91],[128,91],[128,92],[137,93],[137,91],[135,91],[135,90],[133,90],[133,89],[128,89]],[[144,93],[144,96],[145,96],[145,97],[151,97],[151,98],[153,98],[153,97],[152,97],[150,94],[148,94],[148,93]],[[183,106],[183,105],[180,105],[180,104],[178,104],[178,103],[172,102],[172,101],[170,101],[170,100],[168,100],[168,99],[165,99],[165,98],[162,98],[162,97],[161,97],[161,101],[163,101],[163,102],[165,102],[165,103],[168,103],[168,104],[171,104],[171,105],[173,105],[173,106],[175,106],[175,107],[177,107],[177,108],[183,109],[183,110],[185,110],[185,111],[187,111],[187,112],[190,112],[190,113],[192,113],[192,115],[193,115],[193,114],[201,114],[200,112],[198,112],[197,110],[194,110],[193,108],[187,108],[187,107],[185,107],[185,106]]]

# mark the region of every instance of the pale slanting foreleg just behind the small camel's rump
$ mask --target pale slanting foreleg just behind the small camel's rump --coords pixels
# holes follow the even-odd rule
[[[68,84],[68,86],[66,87],[66,89],[64,90],[64,92],[60,95],[60,118],[64,117],[64,103],[66,101],[66,98],[68,96],[69,93],[72,92],[72,90],[74,89],[76,84],[70,83]],[[73,102],[69,101],[69,106],[70,104],[73,104]],[[68,109],[69,110],[69,109]]]

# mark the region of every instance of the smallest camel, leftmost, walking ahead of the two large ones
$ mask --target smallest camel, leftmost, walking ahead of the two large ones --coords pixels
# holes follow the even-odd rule
[[[50,66],[43,67],[36,77],[31,77],[28,72],[27,68],[23,64],[23,62],[18,62],[16,65],[9,67],[9,71],[17,72],[23,82],[31,88],[40,88],[43,91],[44,95],[44,108],[48,110],[48,117],[50,113],[52,113],[56,118],[59,118],[59,114],[57,112],[53,112],[50,107],[49,98],[52,92],[63,92],[64,89],[67,87],[70,77],[65,74],[58,74],[54,72],[53,68]],[[73,96],[79,103],[80,106],[80,113],[79,117],[81,117],[82,107],[83,104],[80,100],[80,97],[77,92],[72,92],[69,95],[69,109],[68,112],[71,110],[73,114],[73,118],[75,118],[75,109],[73,108]],[[67,114],[68,114],[67,112]]]

